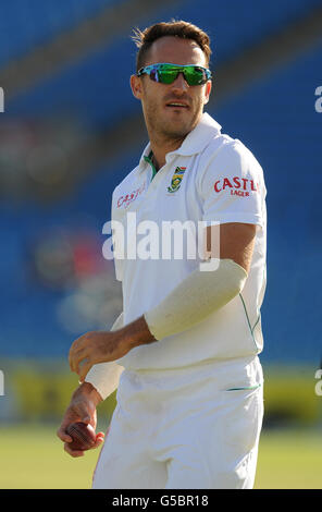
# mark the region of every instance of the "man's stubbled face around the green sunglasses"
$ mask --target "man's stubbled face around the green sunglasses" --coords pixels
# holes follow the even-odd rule
[[[208,68],[206,56],[196,41],[174,36],[157,39],[144,65],[159,62]],[[159,143],[182,141],[194,130],[211,90],[210,81],[205,85],[189,86],[181,73],[172,84],[153,82],[148,75],[133,75],[131,86],[134,96],[141,100],[150,139]]]

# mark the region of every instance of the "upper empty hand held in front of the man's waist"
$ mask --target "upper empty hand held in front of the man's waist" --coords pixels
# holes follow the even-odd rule
[[[92,365],[119,359],[129,351],[120,332],[92,331],[74,341],[69,361],[71,370],[78,374],[81,382]]]

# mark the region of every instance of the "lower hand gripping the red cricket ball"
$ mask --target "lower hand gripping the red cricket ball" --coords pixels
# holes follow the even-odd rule
[[[84,422],[90,424],[96,429],[97,415],[96,407],[101,402],[102,398],[96,391],[96,389],[89,383],[85,382],[73,394],[71,403],[64,414],[62,424],[57,431],[58,437],[64,442],[64,450],[71,456],[83,456],[83,450],[72,450],[69,446],[72,442],[71,436],[66,434],[66,428],[74,422]],[[98,432],[96,436],[96,442],[90,448],[98,448],[104,440],[104,434]]]

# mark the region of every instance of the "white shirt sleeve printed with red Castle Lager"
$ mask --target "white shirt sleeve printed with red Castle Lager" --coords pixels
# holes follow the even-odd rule
[[[239,141],[226,144],[200,180],[202,220],[263,225],[265,185],[253,155]]]

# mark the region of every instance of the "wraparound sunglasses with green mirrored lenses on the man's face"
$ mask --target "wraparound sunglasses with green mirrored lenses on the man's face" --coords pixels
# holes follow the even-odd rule
[[[179,73],[183,73],[188,85],[203,85],[212,77],[211,71],[207,68],[202,68],[201,65],[168,63],[151,64],[146,68],[141,68],[137,72],[137,76],[147,74],[153,82],[172,84]]]

